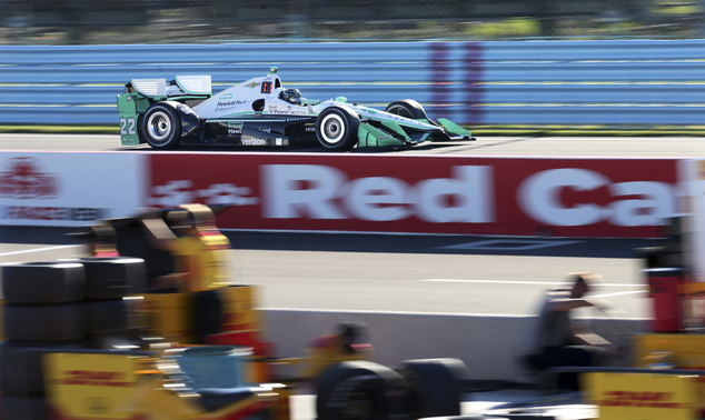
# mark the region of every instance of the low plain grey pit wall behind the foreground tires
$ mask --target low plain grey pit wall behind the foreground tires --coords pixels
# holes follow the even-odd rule
[[[444,313],[329,312],[265,309],[267,339],[277,356],[299,357],[316,337],[337,323],[360,321],[369,327],[375,361],[396,366],[408,359],[457,358],[467,364],[475,380],[536,381],[520,358],[529,349],[536,317]],[[594,328],[607,320],[595,320]],[[643,320],[619,320],[633,331],[643,331]],[[627,337],[609,337],[629,348]],[[616,362],[629,366],[629,351]]]

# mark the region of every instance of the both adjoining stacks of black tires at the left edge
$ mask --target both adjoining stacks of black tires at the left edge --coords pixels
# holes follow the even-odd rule
[[[145,289],[145,261],[83,258],[2,266],[1,272],[0,419],[48,420],[43,354],[125,340],[133,301],[123,298]]]

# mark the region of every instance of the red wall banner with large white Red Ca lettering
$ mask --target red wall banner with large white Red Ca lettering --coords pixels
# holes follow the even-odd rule
[[[235,204],[222,229],[661,237],[676,162],[151,153],[147,204]]]

